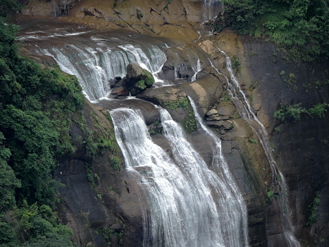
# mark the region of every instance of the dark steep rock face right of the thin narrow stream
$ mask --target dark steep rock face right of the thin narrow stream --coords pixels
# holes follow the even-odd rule
[[[318,103],[328,103],[329,88],[323,83],[328,80],[328,61],[289,61],[286,54],[275,46],[236,36],[232,32],[219,34],[218,46],[240,60],[238,79],[242,89],[252,99],[253,109],[273,140],[277,164],[288,184],[288,206],[297,239],[308,243],[308,246],[324,246],[329,241],[328,224],[324,223],[329,219],[328,210],[324,210],[328,203],[329,153],[326,140],[329,136],[329,116],[310,118],[302,114],[299,121],[280,122],[273,118],[273,114],[281,104],[301,103],[308,109]],[[283,72],[295,75],[293,85],[286,83]],[[317,222],[306,226],[316,197],[320,201],[316,211]],[[278,211],[273,201],[267,219],[269,246],[282,243]]]

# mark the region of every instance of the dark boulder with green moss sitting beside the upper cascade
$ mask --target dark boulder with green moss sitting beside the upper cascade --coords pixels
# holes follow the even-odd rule
[[[144,89],[152,87],[155,78],[146,69],[139,67],[135,63],[129,63],[127,66],[126,87],[132,96],[136,96]]]

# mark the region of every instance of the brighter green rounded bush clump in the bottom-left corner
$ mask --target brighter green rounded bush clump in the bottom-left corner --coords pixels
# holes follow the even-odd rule
[[[1,247],[73,247],[71,234],[71,229],[58,224],[52,208],[36,202],[29,206],[23,200],[19,208],[0,215]]]

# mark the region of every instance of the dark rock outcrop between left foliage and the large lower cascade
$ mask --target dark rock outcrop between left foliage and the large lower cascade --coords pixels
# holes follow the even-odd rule
[[[89,102],[82,116],[86,119],[84,127],[73,122],[70,131],[76,152],[63,160],[55,172],[64,185],[59,189],[58,213],[63,224],[73,229],[73,241],[78,246],[105,247],[110,241],[111,246],[141,246],[139,200],[144,195],[133,185],[133,174],[124,172],[124,164],[113,165],[113,155],[120,150],[115,140],[110,149],[90,155],[89,149],[100,140],[89,133],[99,138],[113,133],[111,117]]]

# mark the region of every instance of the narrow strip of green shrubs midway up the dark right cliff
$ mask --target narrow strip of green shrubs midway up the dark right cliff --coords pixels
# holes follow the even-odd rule
[[[315,116],[318,118],[324,118],[326,116],[326,112],[328,111],[329,104],[317,104],[311,107],[310,109],[305,109],[301,107],[302,103],[298,103],[295,105],[281,105],[280,109],[275,111],[273,118],[285,122],[287,120],[293,120],[296,122],[300,120],[301,114],[308,114],[311,118]]]

